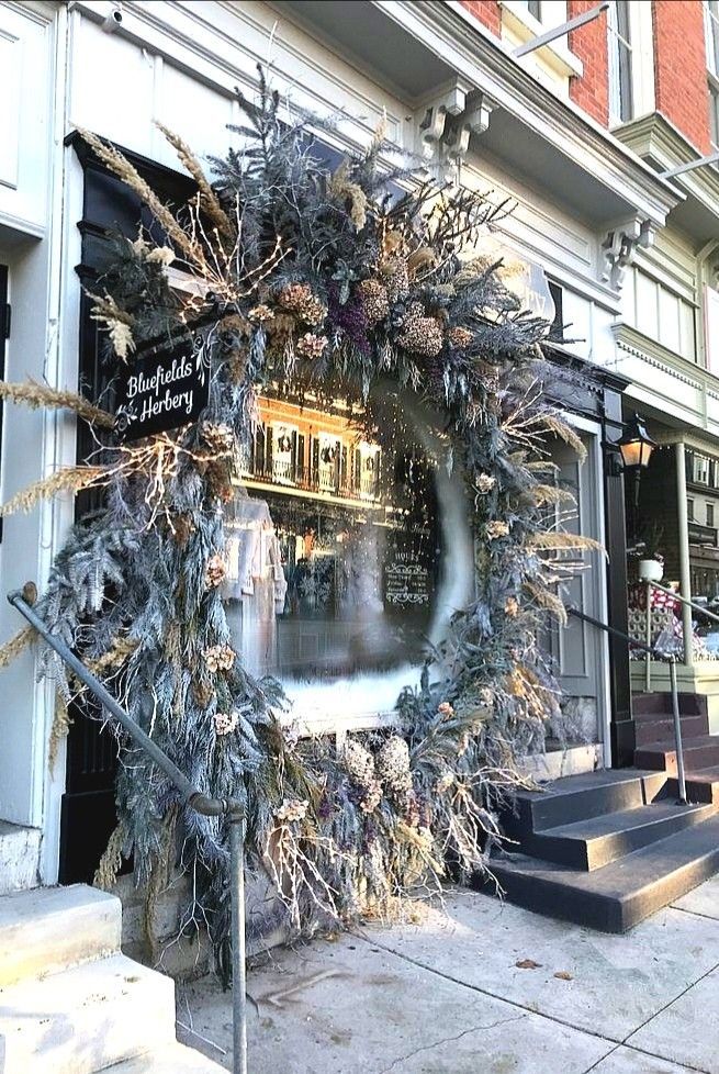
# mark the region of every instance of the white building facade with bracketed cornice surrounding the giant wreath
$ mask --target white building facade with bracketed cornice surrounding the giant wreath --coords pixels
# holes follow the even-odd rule
[[[7,105],[0,114],[0,300],[7,278],[12,310],[5,379],[78,385],[77,268],[87,238],[78,224],[87,206],[72,132],[87,128],[148,167],[180,170],[156,123],[180,134],[201,157],[223,155],[235,137],[227,125],[238,120],[235,87],[251,98],[257,64],[265,64],[288,109],[341,113],[335,149],[367,145],[386,116],[389,138],[418,154],[427,169],[513,202],[493,240],[539,266],[551,282],[565,338],[573,340],[558,345],[558,360],[585,360],[606,373],[591,405],[564,401],[586,440],[588,462],[572,470],[569,460],[560,461],[575,486],[582,532],[610,552],[608,564],[594,558],[573,600],[605,622],[621,618],[623,495],[604,451],[621,428],[626,384],[616,374],[636,380],[627,393],[641,402],[652,381],[654,406],[678,407],[686,421],[700,417],[704,429],[719,436],[714,381],[704,371],[692,379],[682,363],[693,360],[687,326],[700,284],[687,269],[681,238],[667,233],[655,242],[659,262],[647,253],[685,199],[640,159],[638,144],[622,145],[569,100],[568,79],[581,61],[566,38],[524,59],[512,55],[532,27],[520,4],[506,8],[516,10],[499,43],[454,2],[0,2]],[[113,211],[108,204],[108,226]],[[663,301],[661,324],[647,321],[647,280],[674,295],[672,324]],[[656,347],[644,351],[639,336]],[[661,361],[664,351],[674,357]],[[76,461],[77,430],[64,415],[3,410],[0,493],[7,502]],[[42,586],[72,517],[72,503],[60,500],[4,521],[0,591],[29,579]],[[18,620],[2,602],[0,637],[14,634]],[[554,644],[568,694],[577,700],[574,715],[588,714],[588,763],[616,763],[621,736],[613,724],[622,706],[629,717],[618,685],[622,678],[628,682],[626,660],[588,627],[574,626]],[[65,745],[48,769],[54,698],[36,682],[30,652],[3,671],[1,682],[0,820],[32,829],[30,870],[53,883],[63,875],[67,836]]]

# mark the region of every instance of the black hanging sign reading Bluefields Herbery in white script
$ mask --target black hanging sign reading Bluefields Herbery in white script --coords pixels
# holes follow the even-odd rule
[[[194,336],[171,350],[130,361],[119,385],[115,429],[137,440],[195,422],[207,405],[206,345]]]

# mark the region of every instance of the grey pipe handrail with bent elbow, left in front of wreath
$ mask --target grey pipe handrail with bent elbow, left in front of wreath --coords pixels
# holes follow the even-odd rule
[[[65,642],[50,633],[31,604],[35,586],[27,583],[23,590],[8,594],[8,601],[27,619],[55,650],[77,678],[92,691],[103,708],[114,716],[117,723],[139,746],[158,769],[172,781],[182,795],[186,805],[204,817],[226,816],[229,820],[231,854],[231,897],[232,897],[232,966],[233,966],[233,1072],[247,1074],[247,998],[245,967],[245,807],[237,798],[213,798],[203,794],[180,771],[164,750],[145,734],[106,687],[96,679],[76,653]]]

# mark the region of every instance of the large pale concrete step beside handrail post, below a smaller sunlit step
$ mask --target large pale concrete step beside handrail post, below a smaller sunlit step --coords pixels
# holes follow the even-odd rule
[[[96,1074],[175,1042],[173,982],[122,954],[0,993],[2,1074]]]

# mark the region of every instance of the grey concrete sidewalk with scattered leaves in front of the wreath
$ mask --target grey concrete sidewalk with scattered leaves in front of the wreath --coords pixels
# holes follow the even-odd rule
[[[418,916],[252,970],[250,1074],[719,1074],[719,877],[625,936],[463,891]],[[214,980],[178,1020],[232,1067]]]

